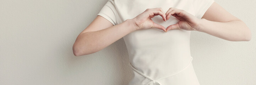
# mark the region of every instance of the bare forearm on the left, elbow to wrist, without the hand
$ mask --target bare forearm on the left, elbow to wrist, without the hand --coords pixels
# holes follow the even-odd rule
[[[106,29],[79,34],[73,45],[73,52],[75,56],[81,56],[100,51],[135,30],[133,21],[127,19]]]

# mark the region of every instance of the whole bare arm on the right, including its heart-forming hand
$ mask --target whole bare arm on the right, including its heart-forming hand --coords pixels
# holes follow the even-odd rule
[[[251,31],[240,19],[234,17],[216,2],[208,8],[202,19],[187,13],[184,10],[170,8],[167,20],[174,16],[180,21],[167,27],[172,29],[196,30],[229,41],[250,41]]]

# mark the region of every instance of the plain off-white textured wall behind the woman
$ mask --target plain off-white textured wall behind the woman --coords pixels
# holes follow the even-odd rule
[[[126,85],[132,78],[123,38],[76,57],[72,45],[108,0],[0,0],[1,85]],[[252,31],[251,41],[191,32],[201,85],[256,84],[256,1],[216,0]]]

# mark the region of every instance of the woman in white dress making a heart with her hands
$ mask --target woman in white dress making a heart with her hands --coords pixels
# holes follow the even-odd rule
[[[109,0],[78,35],[73,53],[95,53],[124,38],[134,72],[129,85],[200,85],[191,63],[192,30],[251,39],[246,24],[213,0]]]

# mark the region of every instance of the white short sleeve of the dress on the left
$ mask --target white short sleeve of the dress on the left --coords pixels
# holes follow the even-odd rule
[[[115,8],[114,0],[108,0],[108,2],[100,10],[98,15],[104,17],[113,25],[116,25],[116,8]]]

